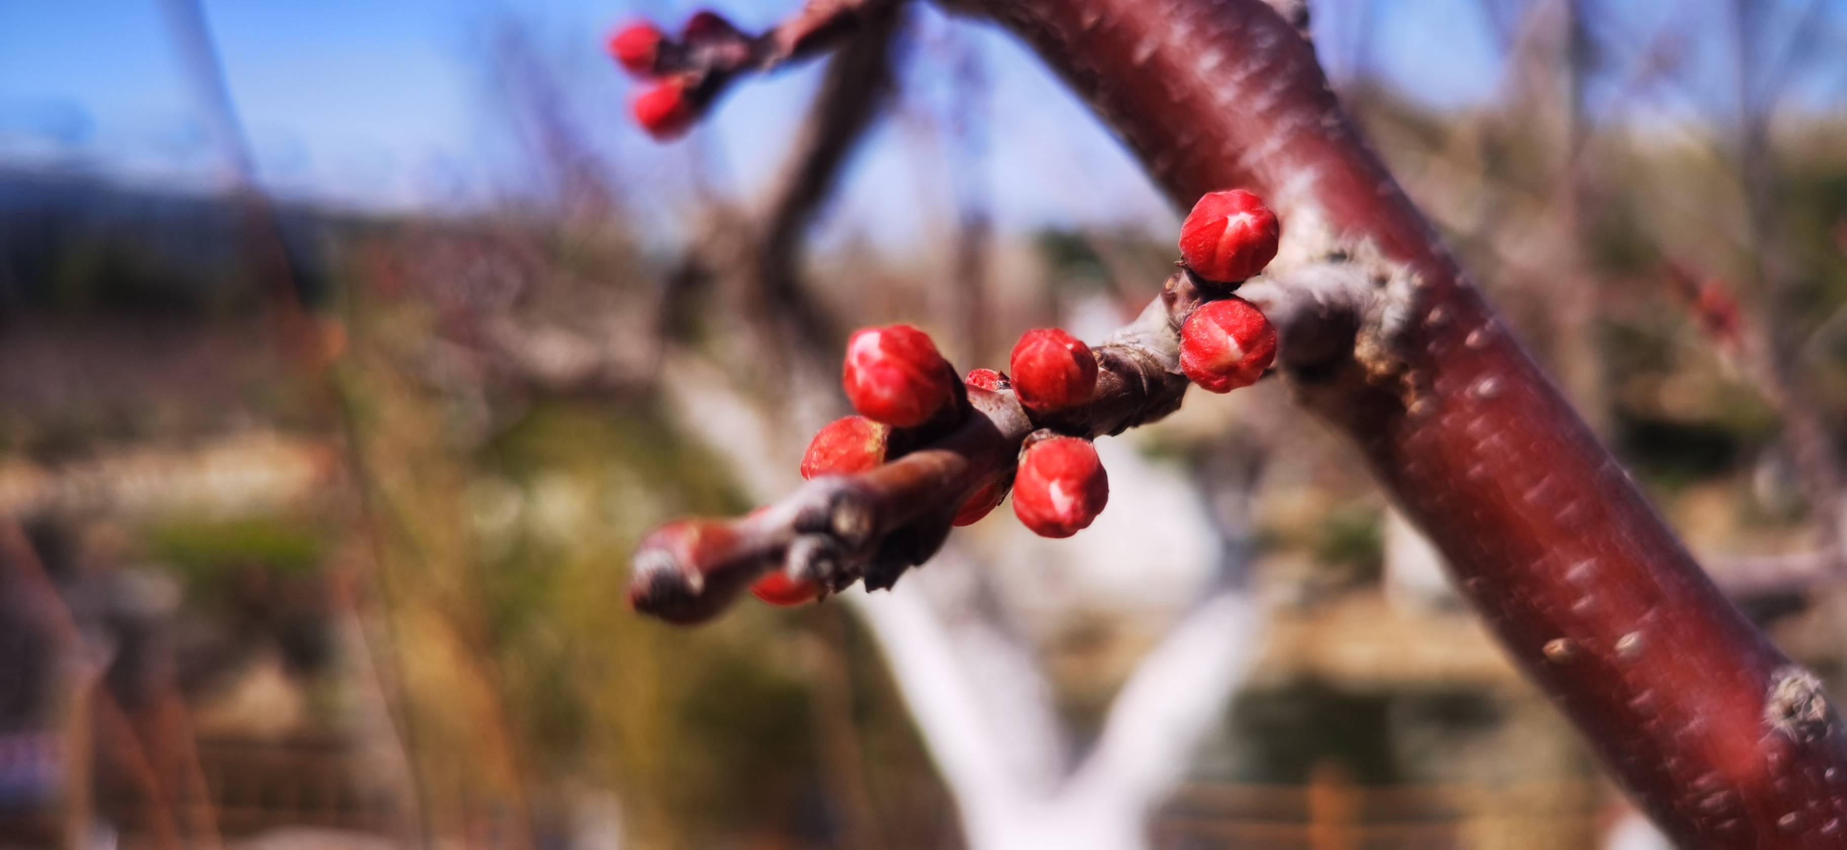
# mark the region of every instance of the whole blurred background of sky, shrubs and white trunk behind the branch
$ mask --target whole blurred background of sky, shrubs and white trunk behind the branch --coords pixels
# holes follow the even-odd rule
[[[1003,507],[896,594],[635,618],[639,535],[796,481],[846,330],[1097,341],[1178,221],[922,4],[818,199],[824,61],[656,144],[602,39],[694,9],[0,4],[0,846],[1660,846],[1278,382],[1103,441],[1071,540]],[[1838,682],[1847,4],[1313,13],[1509,325]]]

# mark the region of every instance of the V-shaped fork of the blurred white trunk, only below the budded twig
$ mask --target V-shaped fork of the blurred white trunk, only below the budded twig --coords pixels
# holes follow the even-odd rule
[[[938,566],[948,564],[931,564]],[[1241,588],[1208,592],[1136,666],[1095,750],[1047,787],[1040,771],[1008,763],[1018,741],[1003,730],[1018,715],[992,708],[1014,702],[1020,714],[1051,717],[1051,706],[1020,699],[1025,690],[1008,682],[984,682],[983,666],[960,658],[948,618],[918,590],[848,599],[877,636],[977,850],[1145,846],[1149,815],[1186,778],[1193,749],[1223,717],[1263,620]],[[1008,699],[994,701],[997,693]]]

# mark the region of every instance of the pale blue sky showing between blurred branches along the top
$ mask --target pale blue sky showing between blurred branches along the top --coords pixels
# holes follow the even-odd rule
[[[164,17],[164,0],[0,0],[0,166],[55,166],[135,183],[211,188],[223,164],[211,146]],[[759,28],[798,0],[715,2]],[[1389,85],[1441,107],[1492,96],[1500,48],[1479,0],[1324,0],[1317,30],[1335,74],[1358,11],[1372,9],[1367,57]],[[1799,4],[1792,4],[1799,6]],[[260,179],[286,197],[360,208],[467,208],[526,192],[534,159],[508,111],[495,35],[515,26],[558,81],[565,116],[611,164],[632,207],[689,203],[691,162],[720,192],[750,197],[776,173],[816,68],[739,87],[709,127],[654,146],[626,122],[630,83],[600,55],[600,37],[632,17],[682,20],[678,0],[205,0],[231,94]],[[1616,4],[1638,41],[1660,22],[1718,15],[1723,4]],[[1793,17],[1790,17],[1793,20]],[[1847,2],[1823,4],[1829,28]],[[1005,35],[935,11],[920,15],[899,120],[855,164],[837,216],[944,205],[951,148],[927,131],[949,111],[955,55],[973,50],[992,81],[988,194],[1003,229],[1044,223],[1162,223],[1167,212],[1116,142]],[[1611,35],[1618,44],[1622,33]],[[1696,44],[1690,89],[1729,90],[1721,46]],[[1838,83],[1805,81],[1825,105]],[[1832,85],[1832,89],[1829,89]],[[1696,94],[1699,96],[1699,94]],[[1679,103],[1679,107],[1677,107]],[[1660,109],[1686,109],[1664,94]],[[929,227],[927,221],[911,221]]]

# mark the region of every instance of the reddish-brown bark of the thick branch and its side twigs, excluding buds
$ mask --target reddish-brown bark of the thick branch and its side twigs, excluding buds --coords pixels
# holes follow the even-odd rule
[[[820,0],[755,41],[781,50],[711,72],[822,50],[888,2]],[[1302,321],[1278,321],[1298,398],[1352,433],[1463,594],[1657,824],[1701,848],[1847,843],[1847,745],[1819,682],[1720,594],[1498,325],[1341,112],[1298,2],[946,6],[1036,48],[1178,207],[1219,188],[1263,194],[1286,221],[1273,299],[1343,266],[1378,280],[1365,297],[1317,295]],[[1186,387],[1169,361],[1173,328],[1191,304],[1177,277],[1129,345],[1101,347],[1082,409],[1029,422],[1010,393],[973,393],[975,415],[912,435],[918,448],[887,466],[645,549],[637,607],[698,620],[785,562],[870,561],[868,586],[888,586],[935,549],[946,505],[1007,468],[1032,426],[1116,433],[1171,411]],[[857,568],[827,575],[846,583]]]

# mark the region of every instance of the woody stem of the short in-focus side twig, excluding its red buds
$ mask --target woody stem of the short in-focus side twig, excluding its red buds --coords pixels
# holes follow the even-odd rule
[[[1284,291],[1271,297],[1291,302]],[[942,546],[957,505],[1010,474],[1038,428],[1103,437],[1178,409],[1188,387],[1178,328],[1201,301],[1188,273],[1169,277],[1134,323],[1093,350],[1097,389],[1080,407],[1032,415],[1012,389],[964,387],[948,417],[898,430],[885,465],[816,478],[741,520],[661,527],[635,553],[630,603],[669,621],[700,621],[778,568],[835,592],[861,579],[868,590],[890,588]]]

